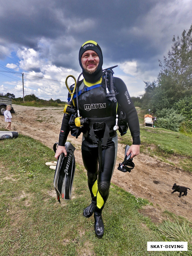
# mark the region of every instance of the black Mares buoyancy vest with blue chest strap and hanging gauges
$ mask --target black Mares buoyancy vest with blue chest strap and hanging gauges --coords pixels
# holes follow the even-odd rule
[[[76,99],[76,106],[73,107],[74,110],[72,110],[73,113],[71,112],[72,115],[69,120],[71,135],[76,136],[76,138],[81,132],[85,134],[85,137],[90,135],[94,145],[98,143],[95,131],[103,130],[102,148],[106,147],[112,132],[114,134],[114,131],[119,130],[121,136],[123,136],[128,129],[125,113],[116,100],[117,92],[112,70],[114,67],[103,70],[100,81],[91,86],[86,85],[87,83],[84,80],[78,81],[81,75],[78,77],[76,93],[73,96],[73,99]],[[73,87],[74,85],[70,87],[71,92]],[[78,113],[80,119],[77,118]],[[118,119],[116,119],[117,116]],[[77,119],[78,121],[75,122]],[[118,123],[116,123],[116,120]],[[113,129],[115,124],[118,124],[116,130]]]

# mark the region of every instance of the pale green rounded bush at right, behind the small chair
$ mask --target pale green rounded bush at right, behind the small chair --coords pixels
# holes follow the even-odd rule
[[[163,108],[156,111],[156,126],[179,132],[181,123],[185,120],[185,116],[177,113],[173,108]]]

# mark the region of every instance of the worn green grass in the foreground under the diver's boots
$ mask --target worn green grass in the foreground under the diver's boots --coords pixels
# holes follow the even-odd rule
[[[112,184],[103,210],[104,237],[94,234],[94,218],[85,219],[90,203],[84,168],[76,164],[73,199],[57,202],[54,171],[45,162],[54,152],[39,141],[19,135],[0,141],[0,256],[180,255],[179,252],[147,252],[147,241],[164,241],[138,209],[142,198]]]

